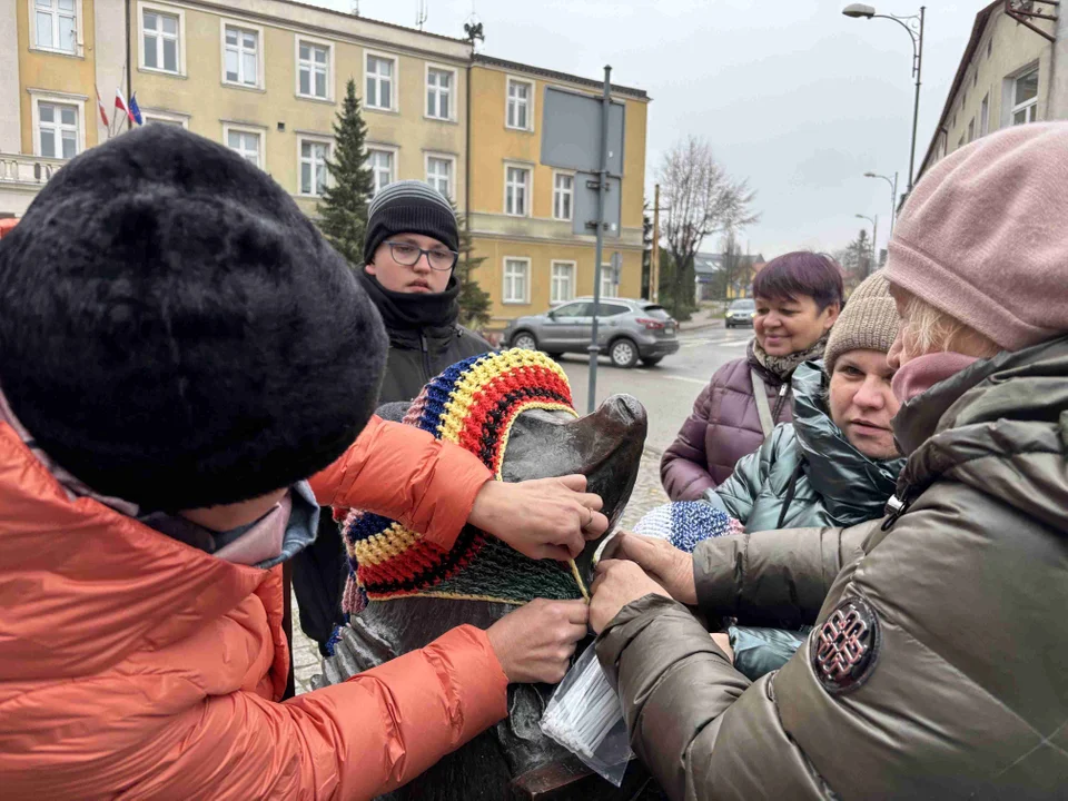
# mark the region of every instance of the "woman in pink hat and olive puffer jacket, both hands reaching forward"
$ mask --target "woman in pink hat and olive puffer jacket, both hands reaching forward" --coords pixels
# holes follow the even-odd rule
[[[916,187],[887,267],[908,464],[883,520],[692,558],[626,535],[633,561],[602,562],[597,653],[669,795],[1064,798],[1066,219],[1068,123],[985,137]],[[751,684],[680,601],[815,629]]]

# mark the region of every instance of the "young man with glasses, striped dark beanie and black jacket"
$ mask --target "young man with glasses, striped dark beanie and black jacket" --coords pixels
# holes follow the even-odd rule
[[[448,200],[426,184],[397,181],[379,191],[367,211],[359,281],[389,334],[378,403],[411,402],[423,385],[469,356],[492,350],[458,324],[459,229]],[[330,511],[320,515],[316,543],[294,562],[300,626],[325,644],[343,621],[345,551]]]

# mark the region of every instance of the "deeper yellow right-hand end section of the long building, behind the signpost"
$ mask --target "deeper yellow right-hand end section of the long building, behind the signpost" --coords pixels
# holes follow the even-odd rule
[[[476,278],[493,297],[494,325],[594,294],[595,229],[575,234],[585,187],[572,169],[543,159],[547,88],[600,98],[600,81],[475,56],[471,67],[469,225]],[[619,281],[604,270],[602,295],[639,297],[645,189],[644,91],[613,87],[622,103],[623,175],[619,230],[604,238],[603,263],[622,257]]]

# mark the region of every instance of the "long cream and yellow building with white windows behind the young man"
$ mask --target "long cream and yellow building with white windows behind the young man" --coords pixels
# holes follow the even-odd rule
[[[0,2],[0,216],[21,216],[67,159],[127,130],[113,117],[118,87],[136,95],[146,125],[181,126],[233,148],[314,218],[350,79],[376,187],[425,180],[469,211],[492,327],[593,293],[594,231],[576,234],[570,221],[576,176],[542,162],[540,98],[550,86],[599,96],[597,82],[288,0]],[[620,254],[622,268],[606,271],[603,288],[636,296],[649,98],[614,95],[625,157],[604,260]]]

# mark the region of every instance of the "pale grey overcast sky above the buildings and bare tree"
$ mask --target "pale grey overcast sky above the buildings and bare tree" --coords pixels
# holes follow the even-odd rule
[[[462,38],[474,11],[488,56],[595,79],[610,63],[614,82],[647,91],[650,200],[662,154],[694,134],[758,192],[761,220],[741,237],[753,253],[835,250],[870,226],[857,214],[879,215],[886,247],[890,188],[863,174],[897,170],[901,191],[908,182],[912,46],[896,22],[843,17],[848,0],[425,1],[427,31]],[[872,4],[904,16],[919,11],[914,1]],[[917,167],[987,3],[929,3]],[[418,4],[360,0],[359,12],[413,26]]]

